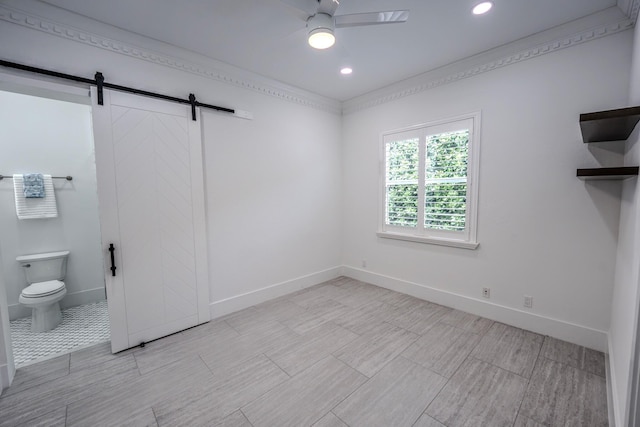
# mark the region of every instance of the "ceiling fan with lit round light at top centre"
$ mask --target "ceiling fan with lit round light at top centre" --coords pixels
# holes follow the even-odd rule
[[[363,25],[400,24],[409,19],[408,10],[352,13],[337,15],[338,0],[281,0],[297,9],[299,16],[307,21],[309,45],[316,49],[327,49],[336,41],[334,30],[342,27]]]

